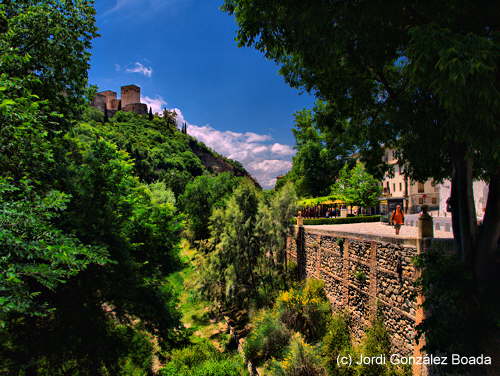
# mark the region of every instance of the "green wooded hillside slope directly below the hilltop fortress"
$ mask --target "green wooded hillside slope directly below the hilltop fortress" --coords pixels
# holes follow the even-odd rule
[[[184,191],[193,177],[208,173],[229,172],[253,180],[239,162],[180,132],[173,111],[164,111],[162,117],[154,116],[152,120],[131,112],[117,112],[105,121],[99,110],[88,108],[84,118],[99,129],[100,136],[133,158],[135,174],[141,180],[167,181],[176,195]]]

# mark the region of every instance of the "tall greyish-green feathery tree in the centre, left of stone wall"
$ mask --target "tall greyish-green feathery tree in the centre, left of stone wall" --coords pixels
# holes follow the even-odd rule
[[[286,286],[284,246],[294,205],[290,185],[266,200],[244,181],[225,208],[213,211],[211,238],[197,260],[198,288],[213,311],[272,304]]]

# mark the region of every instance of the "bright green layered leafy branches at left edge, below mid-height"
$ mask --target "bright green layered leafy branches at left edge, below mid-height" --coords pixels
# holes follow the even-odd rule
[[[104,247],[83,244],[54,226],[70,196],[45,197],[0,177],[0,321],[10,315],[44,316],[53,308],[50,291],[92,264],[109,262]],[[26,197],[19,197],[19,194]],[[31,193],[31,198],[29,197]]]

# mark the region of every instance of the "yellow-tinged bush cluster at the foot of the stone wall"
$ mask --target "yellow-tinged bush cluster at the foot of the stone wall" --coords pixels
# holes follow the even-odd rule
[[[309,343],[321,340],[330,316],[320,281],[306,280],[282,292],[272,310],[252,320],[254,329],[243,347],[245,359],[273,375],[324,374],[319,350]]]

